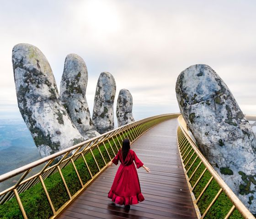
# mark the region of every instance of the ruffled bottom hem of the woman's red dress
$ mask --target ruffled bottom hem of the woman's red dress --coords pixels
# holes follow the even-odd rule
[[[112,202],[120,205],[138,204],[139,202],[144,201],[144,197],[142,193],[139,193],[138,195],[134,195],[131,197],[120,197],[120,196],[117,196],[115,193],[113,193],[112,190],[110,190],[107,197],[111,198]]]

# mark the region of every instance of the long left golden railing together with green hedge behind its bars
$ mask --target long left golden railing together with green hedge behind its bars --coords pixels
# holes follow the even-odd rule
[[[35,211],[40,209],[44,214],[40,218],[57,217],[107,168],[124,138],[133,143],[153,126],[178,115],[135,121],[1,175],[0,183],[13,178],[16,183],[0,192],[0,214],[4,211],[7,215],[0,218],[14,217],[12,214],[34,218]]]

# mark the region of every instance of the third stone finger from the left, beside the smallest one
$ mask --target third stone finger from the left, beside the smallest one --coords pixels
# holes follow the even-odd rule
[[[115,78],[111,73],[102,72],[96,86],[92,115],[94,126],[101,134],[114,129],[113,104],[115,95]]]

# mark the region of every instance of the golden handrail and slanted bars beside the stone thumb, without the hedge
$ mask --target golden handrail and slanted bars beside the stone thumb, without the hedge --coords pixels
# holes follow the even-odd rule
[[[187,177],[187,181],[188,181],[188,185],[190,187],[190,190],[192,192],[193,188],[195,188],[195,186],[197,185],[197,183],[202,179],[204,173],[206,172],[206,170],[208,170],[208,172],[210,172],[210,174],[212,175],[212,177],[209,179],[208,183],[206,184],[206,186],[203,188],[203,191],[200,193],[200,195],[198,196],[197,200],[195,199],[195,197],[193,197],[192,194],[192,199],[194,201],[194,204],[196,205],[198,200],[202,197],[204,191],[207,189],[208,185],[211,183],[211,181],[213,179],[216,180],[216,182],[219,184],[220,190],[219,193],[217,193],[217,195],[215,196],[215,198],[213,199],[213,201],[209,204],[208,208],[205,210],[205,212],[202,212],[203,215],[201,216],[201,214],[199,214],[198,218],[204,218],[204,216],[207,214],[207,212],[209,211],[209,209],[211,208],[211,206],[213,205],[213,203],[216,201],[216,199],[219,197],[220,193],[223,191],[227,197],[230,199],[230,201],[234,204],[231,209],[229,210],[228,214],[225,216],[225,219],[229,218],[229,216],[233,213],[233,211],[235,210],[235,208],[240,212],[240,214],[242,215],[243,218],[245,219],[255,219],[255,217],[251,214],[251,212],[245,207],[245,205],[240,201],[240,199],[235,195],[235,193],[233,193],[233,191],[229,188],[229,186],[223,181],[223,179],[219,176],[219,174],[213,169],[213,167],[210,165],[210,163],[207,161],[207,159],[203,156],[203,154],[201,153],[201,151],[198,149],[197,145],[195,144],[195,142],[192,140],[188,130],[187,130],[187,124],[185,122],[185,120],[183,119],[182,115],[180,115],[178,117],[178,122],[179,122],[179,126],[178,126],[178,130],[177,130],[177,141],[178,141],[178,146],[179,146],[179,151],[180,151],[180,156],[181,156],[181,160],[182,160],[182,165],[184,168],[184,172],[185,175]],[[188,152],[188,150],[192,150],[193,152]],[[185,152],[186,151],[186,152]],[[189,156],[189,154],[191,154],[191,156]],[[196,154],[196,157],[194,158],[193,162],[192,162],[192,157]],[[190,178],[187,176],[187,173],[189,171],[189,169],[192,167],[192,165],[195,163],[195,161],[197,159],[200,159],[201,162],[199,163],[198,167],[201,165],[201,163],[203,163],[203,165],[206,167],[204,169],[204,171],[202,172],[202,174],[200,175],[200,177],[197,179],[197,182],[193,185],[193,188],[191,186],[191,184],[189,183],[190,179],[192,178],[192,176],[194,175],[194,173],[197,171],[194,170],[194,172],[192,173],[192,176],[190,176]],[[185,162],[186,160],[186,162]],[[190,165],[190,167],[187,166],[187,164],[189,162],[192,162],[192,164]],[[187,168],[187,169],[186,169]],[[197,207],[197,206],[196,206]]]

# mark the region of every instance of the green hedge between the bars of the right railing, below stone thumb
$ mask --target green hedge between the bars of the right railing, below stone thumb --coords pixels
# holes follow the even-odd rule
[[[183,155],[183,158],[185,158],[187,156],[187,154],[189,153],[187,158],[185,159],[184,163],[187,164],[187,166],[185,167],[186,170],[188,170],[190,168],[189,171],[187,172],[187,176],[191,177],[192,173],[195,171],[195,169],[199,165],[200,159],[197,158],[197,160],[193,163],[193,161],[195,160],[197,155],[194,154],[192,156],[193,150],[191,152],[188,152],[188,151],[190,151],[190,148],[191,148],[190,146],[188,146],[188,147],[189,147],[188,150],[185,149],[185,151],[187,150],[187,152],[184,151],[182,153],[182,155]],[[192,156],[192,158],[190,159],[191,156]],[[193,165],[192,165],[192,163],[193,163]],[[190,180],[192,187],[195,185],[198,177],[200,177],[200,175],[202,174],[204,169],[205,169],[205,166],[203,165],[203,163],[201,163],[200,166],[198,167],[197,171],[194,173],[194,175],[192,176],[192,178]],[[212,176],[211,176],[210,172],[208,172],[208,170],[203,174],[203,177],[200,179],[200,181],[197,183],[197,185],[195,186],[195,188],[193,190],[195,198],[197,198],[200,195],[203,188],[206,186],[206,184],[208,183],[208,181],[211,177]],[[208,185],[208,188],[205,190],[205,192],[199,199],[199,201],[197,202],[197,206],[198,206],[201,214],[203,214],[203,212],[207,209],[208,205],[212,202],[213,198],[216,196],[219,189],[220,189],[219,184],[213,179],[212,182]],[[205,215],[205,218],[206,219],[224,218],[226,216],[226,214],[229,212],[232,205],[233,204],[231,203],[229,198],[226,196],[226,194],[224,192],[222,192],[220,194],[219,198],[213,204],[213,206],[209,209],[208,213]],[[240,215],[240,213],[237,210],[235,210],[230,218],[242,219],[242,216]]]

